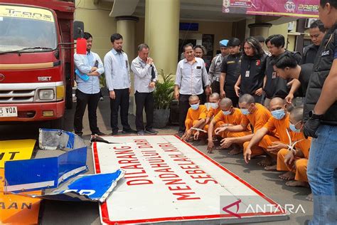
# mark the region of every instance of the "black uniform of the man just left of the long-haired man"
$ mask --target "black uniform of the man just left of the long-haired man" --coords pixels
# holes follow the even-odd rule
[[[237,107],[239,98],[235,94],[234,85],[241,73],[241,53],[236,55],[228,55],[223,59],[221,73],[226,73],[225,87],[226,98],[232,100],[233,106]]]

